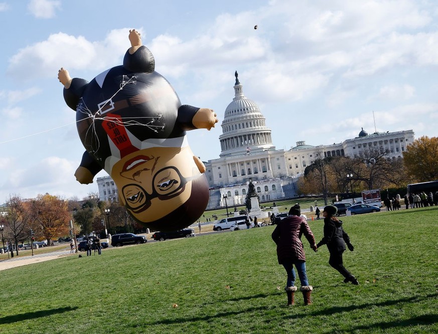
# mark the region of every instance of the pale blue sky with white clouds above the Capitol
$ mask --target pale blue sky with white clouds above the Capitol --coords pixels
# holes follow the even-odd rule
[[[219,156],[236,70],[277,148],[372,133],[373,111],[377,131],[436,136],[437,16],[427,0],[0,0],[0,203],[97,191],[75,180],[84,148],[57,73],[120,65],[133,28],[181,102],[218,114],[188,134],[204,161]]]

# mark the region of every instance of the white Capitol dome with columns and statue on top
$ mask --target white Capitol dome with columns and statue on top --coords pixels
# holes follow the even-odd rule
[[[221,124],[220,156],[275,149],[272,144],[271,130],[266,127],[266,119],[260,108],[243,94],[243,86],[239,82],[237,71],[235,77],[235,96],[225,109]]]

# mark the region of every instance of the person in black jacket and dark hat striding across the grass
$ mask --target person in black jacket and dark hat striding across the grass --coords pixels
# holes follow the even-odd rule
[[[342,254],[346,250],[345,244],[350,251],[353,251],[354,247],[350,243],[348,234],[342,228],[342,221],[336,217],[337,212],[338,208],[334,205],[328,205],[324,208],[324,237],[317,244],[317,249],[322,245],[327,245],[330,252],[329,264],[345,277],[344,283],[352,282],[359,285],[357,278],[344,267]]]

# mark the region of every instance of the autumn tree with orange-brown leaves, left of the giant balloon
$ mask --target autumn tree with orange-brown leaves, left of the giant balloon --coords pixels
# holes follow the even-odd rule
[[[68,234],[71,218],[66,201],[49,194],[38,195],[32,203],[31,211],[48,245],[53,239]]]

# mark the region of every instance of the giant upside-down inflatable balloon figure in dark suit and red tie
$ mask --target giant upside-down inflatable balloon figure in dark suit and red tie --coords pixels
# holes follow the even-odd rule
[[[186,131],[210,130],[218,120],[211,109],[181,105],[155,72],[140,34],[130,30],[129,41],[123,65],[91,82],[59,70],[86,149],[75,176],[89,184],[104,169],[136,221],[153,230],[182,229],[202,215],[209,198],[205,166],[190,149]]]

